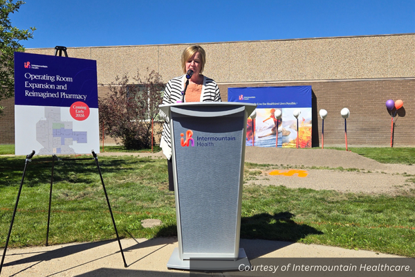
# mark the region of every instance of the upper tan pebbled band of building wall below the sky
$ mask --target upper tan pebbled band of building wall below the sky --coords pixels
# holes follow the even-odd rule
[[[189,44],[68,48],[69,57],[97,61],[98,83],[116,75],[155,70],[167,80],[181,75]],[[324,37],[201,44],[205,75],[216,82],[273,82],[415,77],[415,34]],[[53,48],[28,53],[54,55]]]

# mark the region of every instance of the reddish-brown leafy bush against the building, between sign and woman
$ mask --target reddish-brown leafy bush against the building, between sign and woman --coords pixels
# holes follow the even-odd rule
[[[109,86],[109,96],[98,100],[100,132],[120,139],[127,149],[151,148],[151,123],[157,119],[164,88],[165,83],[156,71],[151,71],[144,80],[137,71],[133,83],[127,75],[117,76],[116,83]],[[160,133],[160,128],[157,132]]]

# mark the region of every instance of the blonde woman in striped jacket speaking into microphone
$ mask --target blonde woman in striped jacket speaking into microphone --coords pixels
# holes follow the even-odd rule
[[[163,104],[174,104],[177,102],[221,102],[219,87],[214,80],[202,75],[205,68],[206,53],[199,46],[188,46],[183,51],[181,66],[184,75],[173,78],[167,82],[163,96]],[[188,85],[186,85],[186,81]],[[172,165],[172,141],[170,137],[169,118],[163,111],[160,112],[165,118],[163,124],[163,134],[161,136],[160,147],[163,154],[167,157],[169,170],[169,190],[174,190],[173,184],[173,165]]]

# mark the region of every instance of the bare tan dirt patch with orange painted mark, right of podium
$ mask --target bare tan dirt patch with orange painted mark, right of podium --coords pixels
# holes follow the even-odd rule
[[[408,176],[415,175],[415,166],[383,164],[345,150],[247,147],[245,161],[270,165],[268,169],[250,168],[252,172],[261,170],[262,173],[248,178],[246,185],[387,195],[400,195],[415,188]],[[313,169],[315,167],[319,169]],[[305,172],[291,176],[270,175],[271,168]]]

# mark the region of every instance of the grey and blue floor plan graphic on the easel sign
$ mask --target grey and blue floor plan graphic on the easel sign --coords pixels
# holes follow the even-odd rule
[[[44,147],[39,154],[76,154],[73,141],[87,143],[87,132],[74,132],[72,121],[61,121],[60,107],[45,107],[45,118],[36,123],[36,140]]]

